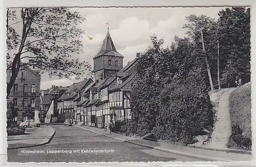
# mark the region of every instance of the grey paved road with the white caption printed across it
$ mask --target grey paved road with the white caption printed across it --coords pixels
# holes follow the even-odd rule
[[[78,127],[51,126],[56,133],[50,144],[8,150],[8,162],[202,161],[121,142]]]

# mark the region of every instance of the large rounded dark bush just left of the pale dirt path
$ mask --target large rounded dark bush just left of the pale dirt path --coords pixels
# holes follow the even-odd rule
[[[212,105],[199,72],[190,71],[182,82],[173,81],[166,85],[160,97],[159,115],[153,131],[157,138],[174,142],[183,140],[186,145],[193,141],[193,136],[212,128]]]

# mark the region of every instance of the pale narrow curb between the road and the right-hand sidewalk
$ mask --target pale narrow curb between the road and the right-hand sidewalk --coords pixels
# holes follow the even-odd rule
[[[88,131],[91,131],[91,132],[94,132],[94,133],[97,133],[97,134],[100,134],[100,135],[103,135],[103,136],[106,136],[106,137],[109,137],[109,138],[115,138],[116,140],[123,141],[123,142],[125,142],[125,143],[130,143],[130,144],[134,144],[134,145],[138,145],[138,146],[142,146],[142,147],[147,147],[147,148],[151,148],[151,149],[156,149],[156,150],[160,150],[160,151],[164,151],[164,152],[168,152],[168,153],[173,153],[173,154],[176,154],[176,155],[182,155],[182,156],[191,157],[191,158],[197,158],[197,159],[202,159],[202,160],[206,160],[206,161],[228,161],[228,160],[226,160],[226,159],[221,159],[221,158],[211,158],[211,157],[202,156],[202,155],[189,154],[189,153],[184,153],[184,152],[180,152],[180,151],[174,151],[174,150],[169,150],[169,149],[163,149],[163,148],[159,148],[159,147],[152,147],[152,146],[150,146],[150,145],[145,145],[145,144],[141,144],[141,143],[136,143],[136,142],[129,141],[129,140],[122,140],[121,138],[113,137],[113,136],[111,136],[111,135],[102,134],[102,133],[99,133],[99,132],[96,132],[96,131],[93,131],[93,130],[90,130],[90,129],[86,129],[86,128],[83,128],[83,127],[80,127],[80,126],[76,126],[76,127],[79,127],[79,128],[81,128],[81,129],[88,130]],[[114,132],[113,132],[113,133],[114,133]],[[116,133],[116,134],[117,134],[117,133]],[[142,140],[142,139],[141,139],[141,140]]]

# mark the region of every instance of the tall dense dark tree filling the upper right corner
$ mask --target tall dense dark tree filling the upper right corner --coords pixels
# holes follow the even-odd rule
[[[250,8],[226,8],[218,15],[221,80],[229,87],[236,87],[239,79],[243,84],[250,81]]]

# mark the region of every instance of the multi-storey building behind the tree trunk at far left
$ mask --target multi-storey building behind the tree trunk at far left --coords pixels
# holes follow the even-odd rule
[[[40,103],[40,80],[41,76],[36,70],[25,66],[23,63],[18,72],[18,76],[8,96],[7,102],[13,102],[19,109],[18,117],[14,121],[17,124],[28,119],[25,115],[26,107],[31,104],[32,113],[30,119],[34,119],[35,110],[39,110]],[[7,66],[7,83],[11,77],[11,64]],[[36,112],[38,113],[38,112]]]

